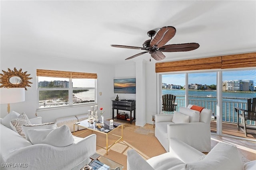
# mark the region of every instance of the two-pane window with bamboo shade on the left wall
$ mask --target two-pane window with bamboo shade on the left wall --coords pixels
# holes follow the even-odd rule
[[[97,74],[37,70],[38,109],[96,103]]]

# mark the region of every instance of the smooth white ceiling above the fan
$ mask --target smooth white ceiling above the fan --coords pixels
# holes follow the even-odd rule
[[[256,1],[3,1],[1,55],[101,63],[146,59],[147,32],[176,27],[167,44],[199,43],[194,51],[164,53],[164,61],[256,52]],[[151,62],[155,62],[154,59]]]

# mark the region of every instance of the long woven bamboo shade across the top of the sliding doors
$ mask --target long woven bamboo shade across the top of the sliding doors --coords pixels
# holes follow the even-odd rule
[[[255,67],[256,53],[156,63],[156,72]]]

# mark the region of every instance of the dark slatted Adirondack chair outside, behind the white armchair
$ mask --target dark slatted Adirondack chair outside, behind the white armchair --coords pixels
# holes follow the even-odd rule
[[[174,111],[177,104],[175,104],[176,96],[172,94],[165,94],[162,96],[162,111]]]

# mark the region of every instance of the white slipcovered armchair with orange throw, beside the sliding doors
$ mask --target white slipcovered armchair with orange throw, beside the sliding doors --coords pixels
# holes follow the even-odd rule
[[[171,137],[175,137],[201,152],[209,152],[211,150],[210,121],[212,111],[204,108],[201,112],[196,112],[191,110],[191,107],[192,105],[188,105],[187,108],[180,107],[180,112],[183,114],[187,114],[186,112],[190,111],[193,111],[193,113],[198,112],[198,122],[174,123],[173,117],[176,113],[155,116],[155,136],[167,152],[169,151],[168,138]],[[189,121],[191,120],[190,117]]]

